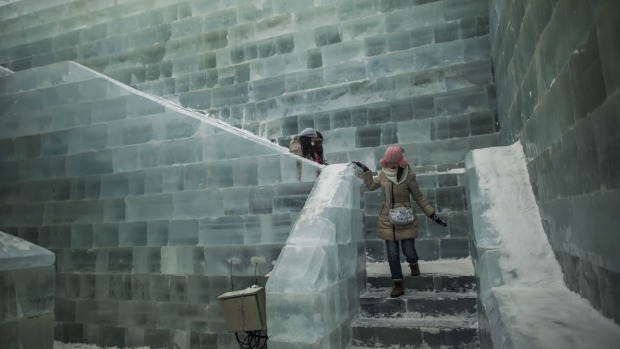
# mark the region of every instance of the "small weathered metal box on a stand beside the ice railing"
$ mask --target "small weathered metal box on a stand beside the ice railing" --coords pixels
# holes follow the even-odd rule
[[[267,329],[266,299],[263,287],[226,292],[219,297],[226,331],[244,332]]]

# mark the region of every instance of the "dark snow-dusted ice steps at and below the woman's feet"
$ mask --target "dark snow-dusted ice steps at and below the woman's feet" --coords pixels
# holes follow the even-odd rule
[[[471,259],[421,261],[420,269],[417,277],[405,273],[405,295],[389,298],[387,263],[367,265],[367,292],[352,325],[351,349],[478,347]],[[404,263],[403,272],[408,270]]]

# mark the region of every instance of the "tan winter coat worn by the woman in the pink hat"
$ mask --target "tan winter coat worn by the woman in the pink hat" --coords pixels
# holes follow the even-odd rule
[[[383,240],[403,240],[403,239],[411,239],[418,237],[418,219],[417,217],[413,220],[411,224],[408,225],[392,225],[390,223],[390,217],[388,216],[388,211],[391,208],[391,202],[386,202],[386,191],[390,190],[390,187],[394,187],[394,207],[413,207],[413,213],[415,217],[416,208],[411,204],[410,195],[413,197],[413,200],[420,206],[422,211],[426,216],[430,216],[435,212],[435,209],[431,206],[431,204],[424,198],[422,195],[422,191],[420,191],[420,187],[418,187],[418,182],[415,179],[415,173],[409,168],[409,174],[407,175],[407,179],[405,179],[400,184],[392,183],[383,171],[379,171],[379,175],[375,178],[372,176],[372,172],[367,171],[364,172],[364,182],[366,183],[366,187],[373,191],[381,188],[383,192],[383,204],[381,206],[381,211],[379,211],[379,219],[377,222],[377,233],[379,237]]]

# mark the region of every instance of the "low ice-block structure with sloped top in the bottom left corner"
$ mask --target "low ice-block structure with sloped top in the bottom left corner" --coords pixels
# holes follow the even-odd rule
[[[52,349],[54,254],[0,231],[0,348]]]

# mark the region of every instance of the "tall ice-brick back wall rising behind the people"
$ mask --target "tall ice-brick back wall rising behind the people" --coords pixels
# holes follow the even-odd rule
[[[281,145],[315,127],[330,163],[499,140],[487,0],[21,0],[0,28],[15,71],[73,60]]]

